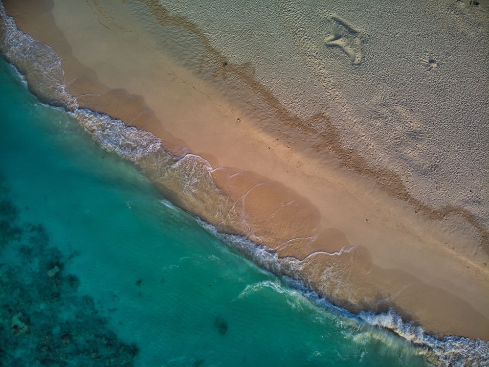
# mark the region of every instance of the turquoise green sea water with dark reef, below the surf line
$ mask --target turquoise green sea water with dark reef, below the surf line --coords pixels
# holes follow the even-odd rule
[[[0,88],[0,365],[424,365],[161,204],[3,60]]]

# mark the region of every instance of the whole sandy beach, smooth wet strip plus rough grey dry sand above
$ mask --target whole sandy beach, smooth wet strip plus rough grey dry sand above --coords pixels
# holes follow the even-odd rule
[[[3,3],[170,201],[333,304],[489,340],[486,5]]]

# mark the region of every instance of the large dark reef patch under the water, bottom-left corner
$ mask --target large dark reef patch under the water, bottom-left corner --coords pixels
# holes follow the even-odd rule
[[[46,228],[17,223],[18,213],[0,201],[0,365],[134,366],[137,346],[119,340],[66,274],[76,254],[50,247]]]

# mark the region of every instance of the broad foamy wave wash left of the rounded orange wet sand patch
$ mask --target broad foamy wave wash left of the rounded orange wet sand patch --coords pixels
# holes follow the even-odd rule
[[[171,202],[205,221],[223,223],[226,198],[214,184],[208,161],[194,154],[178,157],[152,133],[108,115],[87,109],[72,114],[102,147],[133,161]]]

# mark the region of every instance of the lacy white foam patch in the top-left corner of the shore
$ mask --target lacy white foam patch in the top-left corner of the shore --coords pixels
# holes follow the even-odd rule
[[[76,99],[65,91],[61,58],[51,47],[19,30],[1,1],[0,51],[25,76],[29,91],[40,101],[67,111],[78,107]]]

